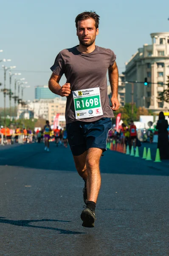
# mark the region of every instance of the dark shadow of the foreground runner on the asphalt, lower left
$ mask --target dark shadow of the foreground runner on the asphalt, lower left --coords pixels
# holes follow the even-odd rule
[[[4,224],[11,224],[14,226],[20,226],[20,227],[35,227],[35,228],[42,228],[42,229],[48,229],[48,230],[56,230],[60,231],[60,234],[85,234],[83,232],[76,232],[76,231],[71,231],[71,230],[63,230],[60,228],[55,228],[55,227],[42,227],[42,226],[34,226],[31,225],[31,222],[40,222],[40,221],[59,221],[59,220],[53,220],[53,219],[41,219],[41,220],[20,220],[20,221],[13,221],[13,220],[8,220],[4,217],[0,217],[0,223]],[[71,221],[59,221],[59,222],[71,222]]]

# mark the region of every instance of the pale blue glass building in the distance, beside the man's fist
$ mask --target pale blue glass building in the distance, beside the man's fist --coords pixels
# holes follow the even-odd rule
[[[49,90],[48,85],[35,86],[35,99],[55,99],[60,97]]]

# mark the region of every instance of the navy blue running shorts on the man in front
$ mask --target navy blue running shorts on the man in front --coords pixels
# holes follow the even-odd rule
[[[79,156],[89,148],[101,148],[105,151],[107,135],[111,128],[112,121],[108,117],[95,122],[76,121],[67,124],[68,143],[73,156]]]

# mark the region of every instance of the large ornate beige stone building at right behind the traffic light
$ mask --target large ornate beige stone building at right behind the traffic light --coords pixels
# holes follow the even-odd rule
[[[158,99],[167,88],[169,76],[169,32],[150,34],[152,44],[144,44],[126,63],[125,80],[138,81],[134,84],[136,106],[149,108],[154,112],[165,111],[169,104]],[[147,78],[148,85],[139,83]],[[131,84],[126,84],[126,102],[132,101]]]

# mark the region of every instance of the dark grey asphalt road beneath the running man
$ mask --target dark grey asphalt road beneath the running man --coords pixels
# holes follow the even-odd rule
[[[69,148],[0,146],[0,256],[169,256],[169,161],[108,150],[100,166],[90,229]]]

